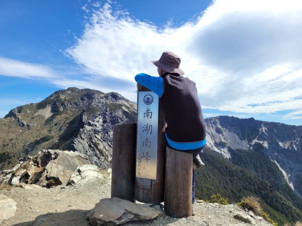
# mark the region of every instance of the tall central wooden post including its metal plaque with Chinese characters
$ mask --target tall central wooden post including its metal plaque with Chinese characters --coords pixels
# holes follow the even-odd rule
[[[134,198],[144,203],[164,201],[166,122],[159,96],[137,84],[137,142]]]

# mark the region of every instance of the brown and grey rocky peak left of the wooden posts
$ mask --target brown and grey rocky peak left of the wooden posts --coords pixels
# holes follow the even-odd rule
[[[39,103],[12,109],[0,119],[0,166],[41,149],[76,150],[109,167],[112,126],[136,121],[136,104],[119,93],[68,88]]]

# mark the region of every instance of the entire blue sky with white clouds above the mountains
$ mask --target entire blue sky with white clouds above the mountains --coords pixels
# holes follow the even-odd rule
[[[302,125],[300,1],[1,1],[0,118],[67,87],[135,101],[176,52],[205,117]]]

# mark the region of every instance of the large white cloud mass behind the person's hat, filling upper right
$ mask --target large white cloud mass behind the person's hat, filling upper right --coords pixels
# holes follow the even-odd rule
[[[92,12],[83,36],[66,52],[95,81],[128,82],[124,93],[132,100],[134,75],[157,75],[149,61],[168,50],[181,56],[203,107],[249,114],[302,109],[300,1],[217,0],[195,22],[164,29],[108,3]],[[115,85],[97,87],[119,91]]]

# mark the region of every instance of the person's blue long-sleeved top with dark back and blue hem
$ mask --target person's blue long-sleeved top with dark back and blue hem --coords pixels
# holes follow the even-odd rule
[[[168,144],[182,151],[200,149],[206,143],[205,123],[195,83],[183,76],[150,76],[140,73],[135,81],[159,95],[168,124]]]

